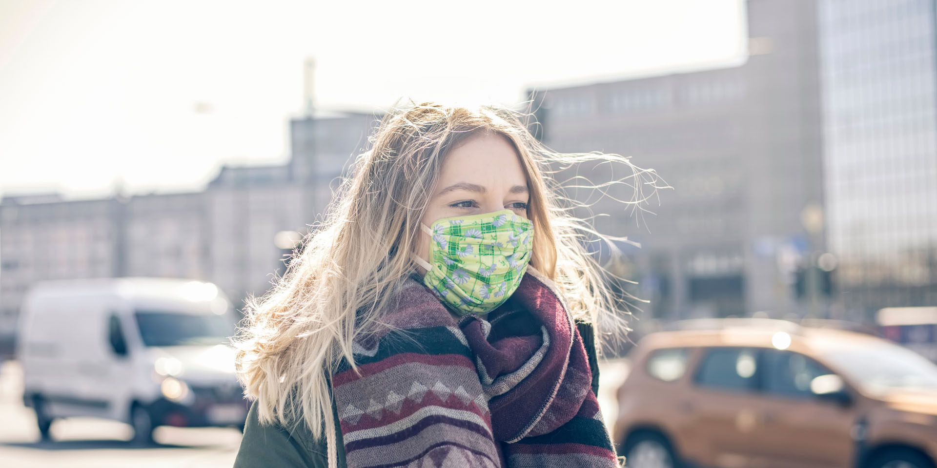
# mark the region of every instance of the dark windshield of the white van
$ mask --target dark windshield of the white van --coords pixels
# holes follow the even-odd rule
[[[137,311],[134,315],[146,346],[223,344],[234,334],[229,314]]]

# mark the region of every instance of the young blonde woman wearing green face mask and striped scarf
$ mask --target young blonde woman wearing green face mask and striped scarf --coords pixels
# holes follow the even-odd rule
[[[590,324],[624,325],[583,246],[595,233],[545,174],[636,168],[552,153],[520,117],[424,103],[383,119],[248,303],[237,367],[256,401],[236,467],[618,466]]]

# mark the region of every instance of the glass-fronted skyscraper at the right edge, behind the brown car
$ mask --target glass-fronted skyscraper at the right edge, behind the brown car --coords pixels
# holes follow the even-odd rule
[[[937,304],[934,4],[818,3],[826,239],[850,318]]]

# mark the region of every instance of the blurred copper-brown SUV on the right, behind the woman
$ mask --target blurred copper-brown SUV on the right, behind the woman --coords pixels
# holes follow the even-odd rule
[[[933,468],[937,365],[868,334],[768,319],[647,335],[617,390],[629,468]]]

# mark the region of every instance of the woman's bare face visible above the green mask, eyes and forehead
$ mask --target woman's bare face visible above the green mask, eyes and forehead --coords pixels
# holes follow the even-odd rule
[[[527,177],[513,145],[501,135],[485,133],[463,141],[446,155],[422,221],[432,227],[442,218],[504,209],[528,217],[529,199]],[[422,230],[417,234],[416,254],[429,258],[429,236]]]

